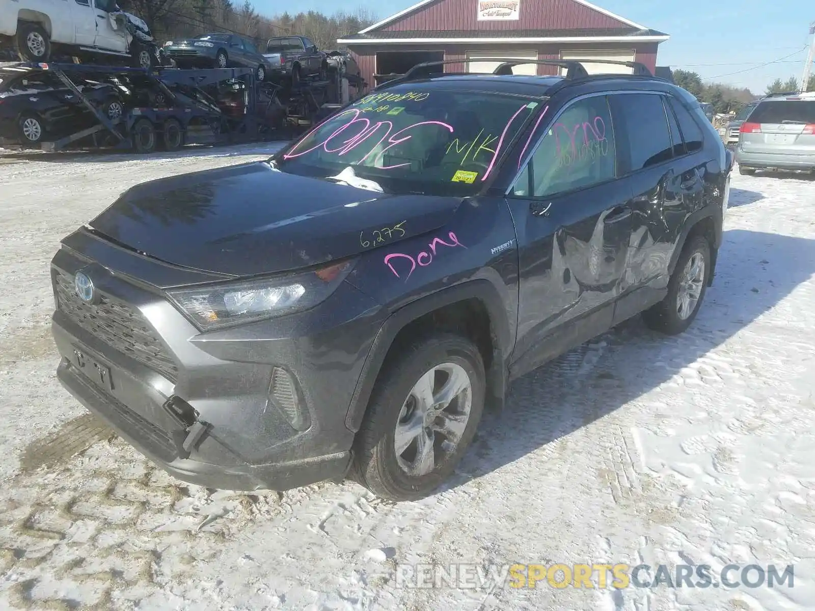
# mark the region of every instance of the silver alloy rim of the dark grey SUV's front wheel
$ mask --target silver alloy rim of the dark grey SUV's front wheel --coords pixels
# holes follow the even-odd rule
[[[408,393],[394,432],[399,467],[411,477],[431,473],[452,455],[467,428],[473,385],[464,367],[441,363]]]

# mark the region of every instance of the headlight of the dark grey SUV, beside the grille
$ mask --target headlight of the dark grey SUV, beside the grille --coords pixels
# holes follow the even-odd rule
[[[292,314],[318,305],[353,268],[332,263],[299,274],[168,291],[176,305],[204,331]]]

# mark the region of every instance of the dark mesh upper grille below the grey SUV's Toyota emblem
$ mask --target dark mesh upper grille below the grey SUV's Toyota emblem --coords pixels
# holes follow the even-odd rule
[[[82,301],[73,288],[73,276],[55,271],[55,289],[69,319],[122,354],[158,371],[168,380],[178,380],[178,367],[138,310],[103,296],[98,304]]]

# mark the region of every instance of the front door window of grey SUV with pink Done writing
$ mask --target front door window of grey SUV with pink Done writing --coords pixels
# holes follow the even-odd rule
[[[615,178],[615,138],[606,96],[567,107],[540,140],[513,193],[547,197]]]

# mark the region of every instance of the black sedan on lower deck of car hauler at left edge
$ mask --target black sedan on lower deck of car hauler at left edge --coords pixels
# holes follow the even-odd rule
[[[121,117],[124,103],[115,88],[90,81],[80,87],[109,119]],[[84,130],[95,121],[79,96],[53,73],[0,70],[0,138],[22,146],[37,145]]]

